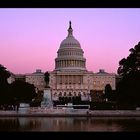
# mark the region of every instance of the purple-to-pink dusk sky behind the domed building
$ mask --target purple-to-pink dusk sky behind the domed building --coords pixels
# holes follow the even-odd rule
[[[119,60],[140,41],[136,8],[2,8],[0,64],[15,74],[54,70],[70,20],[89,71],[116,73]]]

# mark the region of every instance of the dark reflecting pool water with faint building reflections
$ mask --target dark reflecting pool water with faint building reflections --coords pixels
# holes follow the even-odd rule
[[[0,131],[140,131],[140,118],[7,117]]]

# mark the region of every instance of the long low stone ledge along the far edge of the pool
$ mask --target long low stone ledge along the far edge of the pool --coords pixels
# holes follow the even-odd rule
[[[29,108],[17,111],[0,111],[0,117],[140,117],[138,110],[87,110]]]

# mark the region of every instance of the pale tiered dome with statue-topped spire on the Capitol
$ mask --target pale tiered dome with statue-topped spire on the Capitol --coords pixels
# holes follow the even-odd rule
[[[86,70],[86,59],[83,57],[83,53],[79,41],[73,36],[73,29],[69,22],[68,36],[61,42],[57,51],[55,70]]]

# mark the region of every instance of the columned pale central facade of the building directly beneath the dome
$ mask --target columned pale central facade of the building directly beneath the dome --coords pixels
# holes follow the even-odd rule
[[[50,74],[50,87],[53,100],[59,96],[84,96],[87,99],[92,88],[92,73],[90,72],[58,72]]]

